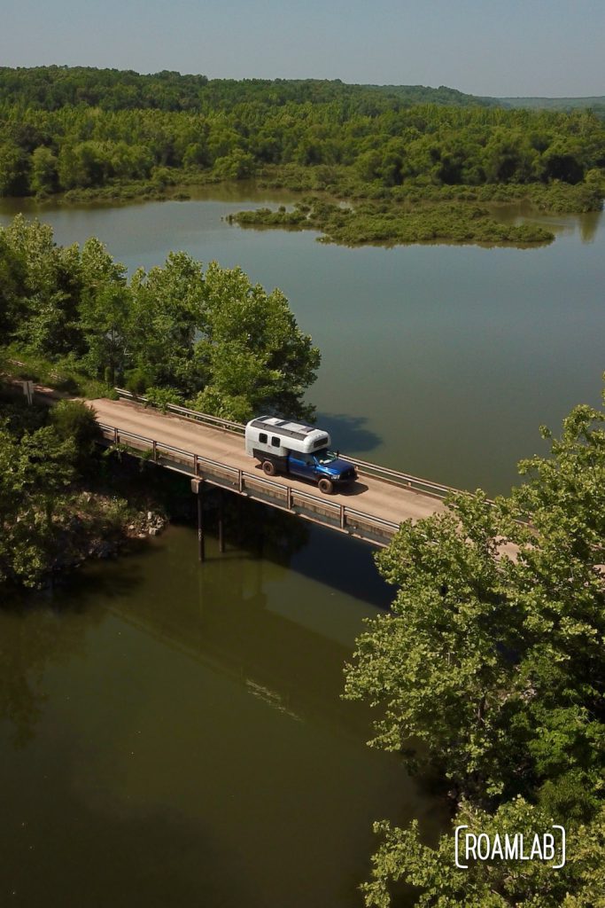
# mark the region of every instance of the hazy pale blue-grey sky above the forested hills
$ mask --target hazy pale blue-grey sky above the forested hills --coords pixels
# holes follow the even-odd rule
[[[605,94],[605,0],[0,0],[0,64]]]

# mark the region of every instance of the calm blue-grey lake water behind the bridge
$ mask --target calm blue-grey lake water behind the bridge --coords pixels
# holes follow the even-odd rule
[[[323,361],[308,399],[335,445],[464,489],[507,491],[605,369],[603,215],[541,218],[538,249],[456,245],[349,249],[314,232],[242,230],[230,212],[286,192],[208,187],[192,202],[39,209],[57,242],[96,235],[133,270],[186,250],[240,265],[286,293]],[[5,202],[0,222],[23,203]],[[517,217],[508,212],[503,217]]]

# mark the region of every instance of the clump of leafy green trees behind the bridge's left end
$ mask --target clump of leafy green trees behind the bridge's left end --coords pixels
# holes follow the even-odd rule
[[[0,273],[3,339],[18,349],[229,419],[311,415],[319,352],[284,294],[239,268],[171,252],[129,280],[95,238],[60,247],[17,216],[0,229]]]

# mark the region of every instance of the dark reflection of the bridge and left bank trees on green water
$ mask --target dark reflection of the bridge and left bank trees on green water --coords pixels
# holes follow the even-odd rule
[[[358,724],[364,711],[343,711],[337,696],[323,696],[323,684],[339,694],[353,641],[350,618],[359,614],[348,605],[344,616],[338,597],[356,600],[364,613],[368,602],[388,607],[392,597],[374,567],[374,550],[258,502],[226,498],[227,552],[220,554],[216,536],[210,537],[203,568],[195,535],[187,527],[173,528],[161,571],[152,560],[155,548],[146,546],[116,565],[89,565],[54,591],[5,594],[0,720],[10,727],[15,747],[33,740],[44,716],[49,667],[84,656],[88,631],[107,612],[200,663],[220,666],[269,705],[291,711],[296,703],[302,714],[315,712],[327,722],[345,716],[357,722],[356,734],[365,734],[365,714]],[[216,493],[207,498],[211,531],[217,500]],[[309,546],[313,530],[315,544]],[[315,589],[313,597],[298,590],[300,577]],[[181,595],[173,601],[175,589]],[[305,666],[316,663],[322,666],[322,690],[300,684]]]

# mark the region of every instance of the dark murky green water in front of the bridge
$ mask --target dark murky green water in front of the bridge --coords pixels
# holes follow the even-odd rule
[[[355,908],[373,820],[443,824],[398,757],[366,747],[366,707],[340,698],[385,593],[372,549],[310,525],[289,546],[301,521],[279,518],[262,558],[258,539],[229,533],[220,555],[210,535],[200,566],[195,529],[171,528],[45,607],[0,612],[17,654],[3,718],[29,731],[3,746],[12,903]]]

